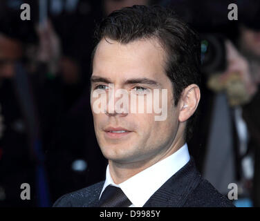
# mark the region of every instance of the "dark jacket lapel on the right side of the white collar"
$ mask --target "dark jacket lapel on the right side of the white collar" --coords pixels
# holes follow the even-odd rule
[[[201,174],[198,173],[193,157],[177,173],[163,184],[145,203],[144,207],[180,207],[185,204],[199,182]]]

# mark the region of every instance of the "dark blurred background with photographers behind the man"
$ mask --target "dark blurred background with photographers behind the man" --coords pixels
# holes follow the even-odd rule
[[[22,21],[22,3],[30,20]],[[238,20],[228,19],[228,5]],[[260,2],[1,0],[0,207],[51,206],[105,178],[89,105],[96,23],[125,6],[173,8],[201,35],[201,103],[189,152],[236,206],[260,206]],[[21,184],[30,200],[21,200]]]

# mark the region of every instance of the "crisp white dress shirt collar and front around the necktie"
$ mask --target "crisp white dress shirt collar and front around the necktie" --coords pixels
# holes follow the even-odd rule
[[[160,186],[169,180],[169,178],[179,171],[189,161],[189,151],[187,144],[184,144],[175,153],[165,159],[149,166],[144,171],[133,175],[128,180],[120,184],[115,184],[109,172],[109,165],[106,167],[106,180],[100,197],[106,189],[106,186],[117,186],[122,189],[127,198],[132,202],[129,207],[142,207],[151,195],[153,195]]]

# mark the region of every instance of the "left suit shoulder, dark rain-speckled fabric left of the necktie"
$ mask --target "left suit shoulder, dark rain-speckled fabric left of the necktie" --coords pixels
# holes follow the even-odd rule
[[[53,204],[53,207],[81,207],[87,202],[98,198],[104,182],[98,182],[83,189],[62,195]]]

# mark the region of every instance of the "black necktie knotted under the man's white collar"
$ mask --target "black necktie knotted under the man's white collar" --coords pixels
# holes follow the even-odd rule
[[[100,207],[128,207],[132,203],[124,195],[122,189],[115,187],[115,186],[106,186],[104,192],[101,195],[100,202],[98,206]]]

